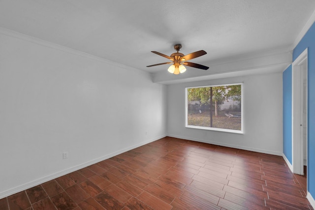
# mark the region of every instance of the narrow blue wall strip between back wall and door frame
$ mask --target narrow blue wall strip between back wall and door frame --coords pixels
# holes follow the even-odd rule
[[[283,72],[284,155],[292,165],[292,65]]]

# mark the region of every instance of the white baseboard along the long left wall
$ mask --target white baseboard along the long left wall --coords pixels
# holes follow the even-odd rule
[[[63,176],[63,175],[66,175],[66,174],[75,172],[75,171],[77,171],[77,170],[83,169],[83,168],[85,168],[85,167],[91,166],[91,165],[93,165],[93,164],[95,164],[95,163],[98,163],[98,162],[100,162],[100,161],[106,160],[106,159],[108,159],[108,158],[114,157],[114,156],[116,156],[116,155],[119,155],[119,154],[121,154],[121,153],[124,153],[124,152],[126,152],[126,151],[129,151],[129,150],[131,150],[131,149],[137,148],[137,147],[139,147],[139,146],[143,146],[143,145],[145,145],[145,144],[147,144],[147,143],[151,143],[151,142],[153,142],[153,141],[162,139],[162,138],[164,138],[164,137],[166,137],[166,135],[162,135],[162,136],[159,136],[159,137],[154,138],[154,139],[151,139],[151,140],[146,140],[146,141],[143,141],[143,142],[141,142],[141,143],[137,143],[137,144],[135,144],[135,145],[133,145],[133,146],[129,146],[129,147],[126,147],[126,148],[124,148],[124,149],[118,150],[118,151],[116,151],[116,152],[112,152],[112,153],[110,153],[110,154],[107,154],[107,155],[104,155],[104,156],[102,156],[102,157],[96,158],[96,159],[94,159],[94,160],[88,161],[88,162],[86,162],[86,163],[83,163],[83,164],[80,164],[80,165],[77,165],[77,166],[68,168],[68,169],[66,169],[66,170],[57,172],[57,173],[55,173],[55,174],[48,175],[48,176],[45,176],[45,177],[42,177],[42,178],[39,178],[39,179],[36,179],[36,180],[32,180],[32,181],[30,181],[30,182],[28,182],[28,183],[25,183],[25,184],[22,184],[22,185],[20,185],[20,186],[13,187],[13,188],[11,188],[11,189],[9,189],[9,190],[2,191],[2,192],[0,192],[0,199],[5,198],[5,197],[8,197],[8,196],[13,195],[13,194],[18,193],[18,192],[21,192],[21,191],[23,191],[23,190],[32,188],[32,187],[37,186],[37,185],[39,185],[39,184],[45,183],[45,182],[47,182],[47,181],[53,180],[53,179],[58,178],[58,177],[60,177],[60,176]]]

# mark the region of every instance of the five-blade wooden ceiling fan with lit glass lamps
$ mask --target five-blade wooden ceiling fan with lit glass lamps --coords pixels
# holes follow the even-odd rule
[[[164,58],[167,58],[169,60],[171,60],[172,62],[166,62],[166,63],[161,63],[161,64],[154,64],[154,65],[150,65],[147,67],[154,67],[154,66],[158,66],[158,65],[163,65],[163,64],[172,64],[169,68],[168,71],[170,73],[174,73],[174,74],[179,74],[179,73],[184,73],[186,71],[186,68],[183,66],[189,66],[189,67],[193,67],[193,68],[197,68],[197,69],[202,69],[202,70],[208,70],[209,67],[203,66],[201,64],[195,64],[195,63],[191,63],[191,62],[187,62],[188,60],[197,58],[199,56],[205,55],[207,54],[206,51],[204,50],[200,50],[197,52],[193,52],[190,53],[188,55],[184,55],[183,53],[178,52],[180,49],[182,48],[181,44],[175,44],[174,45],[174,49],[177,51],[176,53],[173,53],[171,56],[167,56],[164,55],[162,53],[159,53],[157,51],[151,51],[155,54],[158,54]]]

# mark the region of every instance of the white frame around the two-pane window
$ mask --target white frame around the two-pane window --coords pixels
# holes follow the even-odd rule
[[[188,125],[188,89],[190,88],[203,88],[203,87],[220,87],[220,86],[232,86],[232,85],[241,85],[241,130],[233,130],[233,129],[224,129],[224,128],[213,128],[213,127],[203,127],[203,126],[195,126]],[[219,131],[219,132],[227,132],[227,133],[235,133],[235,134],[244,134],[244,94],[243,94],[243,82],[241,83],[229,83],[229,84],[220,84],[220,85],[205,85],[205,86],[193,86],[185,88],[185,127],[192,129],[201,129],[201,130],[209,130],[209,131]]]

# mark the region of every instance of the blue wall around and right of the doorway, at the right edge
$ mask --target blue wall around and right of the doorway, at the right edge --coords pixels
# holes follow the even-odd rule
[[[308,191],[315,196],[315,23],[293,50],[293,61],[308,48]]]

